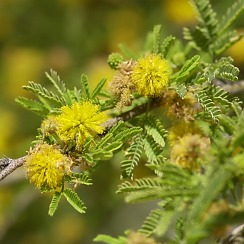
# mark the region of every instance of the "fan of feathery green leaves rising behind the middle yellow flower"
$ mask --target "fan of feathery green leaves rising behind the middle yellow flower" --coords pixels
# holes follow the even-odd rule
[[[106,79],[101,79],[94,90],[90,91],[88,78],[83,74],[81,75],[80,81],[81,88],[78,89],[74,87],[73,90],[69,90],[66,88],[65,83],[60,79],[57,72],[51,70],[50,74],[47,72],[45,74],[53,86],[55,92],[50,91],[49,89],[43,87],[41,84],[29,81],[29,85],[23,86],[23,88],[34,93],[39,101],[25,97],[18,97],[16,102],[24,108],[29,109],[44,117],[50,113],[58,113],[59,108],[64,105],[70,106],[74,102],[79,102],[81,100],[93,100],[95,103],[99,103],[102,106],[102,110],[104,109],[104,106],[111,103],[108,100],[100,102],[100,100],[97,99],[97,96],[100,95],[100,92],[106,83]]]

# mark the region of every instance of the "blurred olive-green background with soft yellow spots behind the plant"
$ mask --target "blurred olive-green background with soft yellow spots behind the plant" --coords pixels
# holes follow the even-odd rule
[[[233,3],[211,2],[219,16]],[[239,31],[243,20],[242,15],[235,23]],[[181,37],[182,26],[195,21],[188,0],[0,0],[0,157],[25,155],[40,125],[40,117],[14,102],[29,96],[22,89],[28,81],[45,84],[50,69],[68,87],[81,73],[91,86],[103,77],[109,81],[107,56],[119,51],[119,43],[136,52],[154,25],[162,24],[165,36]],[[228,50],[242,70],[243,53],[244,40]],[[63,199],[49,217],[51,196],[41,195],[18,169],[0,182],[0,243],[89,244],[100,233],[116,236],[138,228],[155,203],[124,204],[115,194],[119,174],[115,157],[94,174],[92,187],[79,190],[88,207],[85,215]]]

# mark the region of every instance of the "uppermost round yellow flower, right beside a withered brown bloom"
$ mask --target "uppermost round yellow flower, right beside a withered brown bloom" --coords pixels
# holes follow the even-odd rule
[[[149,54],[135,64],[132,80],[141,95],[158,97],[167,88],[170,74],[171,67],[166,59]]]

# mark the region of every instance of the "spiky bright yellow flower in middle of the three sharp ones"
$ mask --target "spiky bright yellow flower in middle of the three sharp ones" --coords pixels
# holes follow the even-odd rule
[[[62,113],[56,117],[57,134],[63,141],[75,141],[76,147],[81,148],[86,138],[104,131],[102,123],[107,120],[107,115],[99,109],[89,101],[62,107]]]

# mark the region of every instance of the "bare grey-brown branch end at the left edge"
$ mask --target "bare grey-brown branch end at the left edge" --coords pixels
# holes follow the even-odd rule
[[[15,171],[17,168],[24,164],[25,157],[11,159],[11,158],[2,158],[0,159],[0,181]]]

